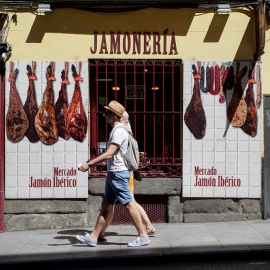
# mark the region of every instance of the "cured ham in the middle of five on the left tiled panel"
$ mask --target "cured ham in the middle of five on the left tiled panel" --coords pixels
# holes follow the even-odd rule
[[[44,92],[43,102],[35,117],[35,128],[41,141],[51,145],[58,140],[58,126],[54,110],[54,92],[52,89],[54,62],[47,68],[47,88]]]

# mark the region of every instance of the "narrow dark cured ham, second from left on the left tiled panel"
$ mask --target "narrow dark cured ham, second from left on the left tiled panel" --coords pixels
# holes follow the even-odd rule
[[[34,80],[36,80],[36,77],[34,75],[35,62],[32,62],[32,69],[29,65],[27,65],[26,69],[29,80],[29,87],[27,91],[27,99],[23,107],[29,121],[29,128],[26,131],[25,136],[28,138],[30,142],[35,143],[40,140],[37,131],[35,129],[35,117],[38,112],[36,91],[34,86]]]

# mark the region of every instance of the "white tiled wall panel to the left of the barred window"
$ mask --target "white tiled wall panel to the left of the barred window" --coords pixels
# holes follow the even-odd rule
[[[43,94],[47,87],[46,71],[51,62],[36,62],[34,81],[36,100],[38,108],[42,103]],[[75,65],[77,72],[78,62],[68,62],[67,94],[70,103],[75,82],[72,76],[71,66]],[[32,62],[13,62],[13,70],[18,68],[19,73],[16,80],[16,88],[24,105],[28,90],[28,77],[26,66],[32,67]],[[53,82],[54,102],[57,101],[61,89],[61,72],[64,69],[64,62],[55,62]],[[6,64],[6,95],[5,109],[8,110],[10,83],[9,62]],[[82,100],[85,113],[88,116],[88,62],[82,62],[80,82]],[[5,197],[9,199],[32,199],[32,198],[87,198],[88,196],[88,173],[79,172],[77,164],[88,159],[88,131],[83,142],[77,142],[73,138],[64,140],[61,137],[53,145],[45,145],[41,141],[30,143],[27,137],[17,143],[5,140]],[[31,176],[35,179],[53,179],[54,167],[59,169],[76,170],[75,187],[29,187]],[[61,177],[60,177],[61,178]]]

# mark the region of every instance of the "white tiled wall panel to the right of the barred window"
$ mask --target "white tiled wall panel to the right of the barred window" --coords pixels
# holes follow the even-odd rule
[[[184,104],[183,117],[193,93],[192,64],[197,68],[197,62],[184,62]],[[201,62],[209,64],[212,62]],[[222,62],[216,62],[219,66]],[[236,63],[233,63],[234,72]],[[240,62],[251,67],[250,62]],[[261,66],[260,66],[261,68]],[[261,71],[260,71],[261,74]],[[254,73],[254,78],[256,75]],[[243,89],[247,89],[248,72],[242,79]],[[241,128],[228,125],[226,106],[233,94],[233,89],[227,91],[227,104],[219,103],[218,95],[200,91],[202,105],[206,117],[205,136],[197,140],[183,124],[183,197],[220,197],[220,198],[260,198],[261,197],[261,106],[257,108],[257,135],[251,137]],[[253,85],[254,102],[256,103],[256,84]],[[244,91],[245,96],[245,91]],[[239,178],[240,187],[195,186],[195,166],[217,170],[217,175],[208,177]],[[207,177],[207,176],[200,176]]]

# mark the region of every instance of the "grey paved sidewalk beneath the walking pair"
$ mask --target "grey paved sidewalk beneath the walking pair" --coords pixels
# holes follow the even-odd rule
[[[270,251],[270,220],[155,224],[155,228],[150,244],[137,248],[127,247],[136,238],[132,225],[111,225],[107,241],[96,247],[75,238],[76,234],[91,232],[85,228],[3,232],[0,233],[0,265]]]

